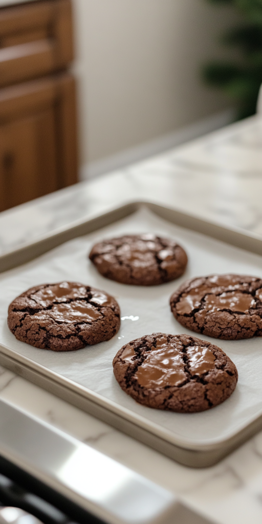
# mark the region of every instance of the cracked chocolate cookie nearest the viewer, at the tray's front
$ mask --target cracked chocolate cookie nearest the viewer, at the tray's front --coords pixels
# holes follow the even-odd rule
[[[118,351],[114,374],[140,404],[179,413],[213,408],[234,391],[237,369],[217,346],[188,335],[153,333]]]

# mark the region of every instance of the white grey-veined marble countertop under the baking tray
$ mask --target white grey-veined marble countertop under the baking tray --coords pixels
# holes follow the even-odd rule
[[[262,118],[0,214],[0,253],[132,200],[150,199],[262,239]],[[262,432],[219,464],[184,467],[0,368],[0,398],[172,490],[211,522],[261,524]]]

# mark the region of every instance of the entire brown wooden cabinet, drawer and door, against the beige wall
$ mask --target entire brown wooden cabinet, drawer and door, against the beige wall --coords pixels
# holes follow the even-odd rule
[[[72,57],[69,0],[0,9],[1,211],[77,182]]]

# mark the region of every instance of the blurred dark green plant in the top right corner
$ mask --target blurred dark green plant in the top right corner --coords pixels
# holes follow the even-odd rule
[[[246,20],[227,30],[224,45],[238,48],[234,61],[213,61],[205,65],[204,79],[224,91],[237,103],[238,118],[255,113],[262,83],[262,0],[209,0],[213,4],[235,7]]]

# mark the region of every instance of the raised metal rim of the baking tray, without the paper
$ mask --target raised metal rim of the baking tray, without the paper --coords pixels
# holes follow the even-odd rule
[[[262,238],[259,237],[257,234],[250,234],[249,232],[244,232],[244,230],[241,230],[240,228],[228,228],[225,226],[221,226],[220,224],[217,224],[215,222],[209,222],[204,219],[200,219],[199,217],[196,217],[192,214],[181,212],[180,210],[177,210],[176,208],[169,208],[167,206],[160,205],[158,203],[152,202],[152,201],[132,201],[128,202],[124,205],[114,207],[109,212],[103,214],[103,215],[97,215],[96,217],[93,217],[92,219],[88,220],[80,220],[77,222],[71,223],[71,226],[69,228],[63,226],[59,228],[58,230],[53,230],[52,232],[49,232],[48,234],[43,235],[40,239],[38,239],[35,242],[29,242],[26,245],[21,246],[18,249],[14,249],[8,253],[5,253],[4,255],[0,256],[0,272],[3,272],[3,269],[1,271],[1,261],[4,259],[4,265],[6,265],[7,261],[10,262],[10,267],[8,269],[12,269],[13,267],[18,267],[21,264],[17,264],[17,255],[19,257],[19,253],[22,254],[22,258],[25,261],[29,261],[31,259],[36,258],[40,254],[48,252],[48,250],[51,250],[53,247],[56,247],[58,245],[63,244],[64,242],[67,242],[71,238],[75,238],[76,236],[82,236],[85,234],[88,234],[89,232],[99,230],[104,225],[108,225],[109,223],[114,223],[117,220],[121,220],[125,216],[128,216],[130,214],[133,214],[135,211],[137,211],[141,206],[146,206],[149,210],[157,214],[158,216],[161,216],[162,218],[168,220],[169,222],[188,228],[192,231],[196,231],[198,233],[211,236],[212,238],[215,238],[219,241],[229,243],[232,245],[232,238],[234,240],[234,235],[236,235],[234,245],[236,247],[240,247],[243,249],[243,245],[239,246],[239,242],[242,242],[243,239],[247,240],[247,246],[249,247],[249,244],[252,241],[254,241],[253,249],[247,249],[251,253],[256,253],[258,255],[262,255]],[[170,214],[174,214],[178,220],[170,220],[170,217],[168,216]],[[108,219],[110,222],[108,222]],[[181,223],[181,221],[185,221],[186,223]],[[190,227],[187,222],[194,221],[194,227]],[[102,225],[101,225],[102,224]],[[83,231],[84,226],[90,226],[88,227],[88,231]],[[204,227],[204,232],[200,231],[200,227]],[[80,232],[78,231],[80,230]],[[216,234],[211,235],[208,234],[209,231],[213,231]],[[69,233],[69,238],[68,238]],[[74,233],[77,233],[76,235]],[[222,239],[221,235],[227,237],[227,239]],[[73,235],[73,236],[71,236]],[[218,235],[218,236],[217,236]],[[233,237],[232,237],[233,235]],[[50,241],[50,247],[46,249],[46,245],[48,244],[48,241]],[[228,242],[230,240],[230,242]],[[55,243],[55,244],[54,244]],[[36,250],[34,248],[37,248]],[[41,251],[39,253],[38,248],[40,249],[45,248],[44,251]],[[32,249],[32,252],[30,253],[30,249]],[[245,249],[245,247],[244,247]],[[29,253],[28,253],[29,251]],[[37,253],[37,254],[36,254]],[[27,260],[25,260],[25,256],[28,256]],[[12,262],[12,258],[14,259]],[[14,264],[14,265],[13,265]],[[8,270],[7,269],[7,270]],[[195,443],[190,442],[189,440],[184,440],[182,437],[174,436],[173,433],[170,430],[167,430],[165,428],[162,428],[161,425],[158,423],[152,422],[143,416],[134,413],[132,410],[125,408],[123,406],[118,405],[117,402],[112,401],[110,399],[107,399],[106,397],[103,397],[100,394],[97,394],[96,392],[90,390],[89,388],[86,388],[84,386],[81,386],[80,384],[76,383],[75,381],[63,377],[62,375],[53,372],[52,370],[46,368],[45,366],[36,363],[32,359],[21,355],[20,353],[16,352],[15,350],[12,350],[8,348],[7,346],[0,344],[0,364],[3,364],[3,366],[7,367],[8,369],[12,370],[14,373],[20,376],[24,376],[24,378],[29,379],[31,382],[39,385],[41,383],[40,387],[43,387],[47,389],[47,391],[50,391],[51,383],[53,385],[57,386],[54,387],[56,389],[55,394],[68,402],[72,403],[73,405],[79,407],[79,401],[80,397],[86,401],[86,403],[89,404],[89,406],[83,405],[80,409],[83,409],[87,411],[88,413],[91,412],[91,406],[90,403],[93,404],[93,408],[97,408],[97,411],[99,411],[99,408],[106,409],[111,413],[111,425],[114,425],[117,429],[120,429],[124,432],[126,432],[129,436],[133,436],[133,434],[130,434],[130,432],[125,431],[124,426],[119,427],[119,424],[116,424],[116,421],[114,423],[114,417],[121,418],[125,420],[126,422],[129,422],[134,427],[136,427],[136,430],[139,431],[139,429],[146,432],[149,437],[151,437],[162,441],[163,443],[171,445],[174,450],[176,451],[174,454],[170,453],[170,450],[161,449],[160,451],[163,453],[166,453],[168,456],[171,456],[172,458],[175,458],[178,462],[182,462],[185,465],[193,466],[193,467],[205,467],[206,465],[213,465],[214,463],[218,462],[220,459],[222,459],[223,456],[230,453],[235,447],[245,442],[249,436],[252,436],[256,431],[258,431],[260,428],[262,428],[262,414],[259,416],[254,415],[251,420],[249,420],[248,424],[245,424],[243,421],[240,427],[233,431],[231,435],[228,437],[220,438],[214,441],[212,443]],[[65,394],[66,390],[68,392],[68,395]],[[70,399],[70,393],[72,396],[78,397],[78,403],[76,402],[75,398]],[[65,398],[65,396],[67,398]],[[81,403],[81,402],[80,402]],[[83,404],[83,402],[82,402]],[[101,418],[102,420],[105,420],[105,416],[103,414],[99,416],[99,414],[94,412],[91,413],[97,418]],[[109,417],[109,415],[108,415]],[[110,417],[109,417],[110,418]],[[108,421],[105,420],[107,423]],[[120,424],[121,426],[121,424]],[[130,428],[129,428],[130,429]],[[137,431],[135,431],[137,433]],[[147,445],[151,445],[151,447],[155,447],[159,451],[159,445],[148,444],[148,442],[145,442],[144,438],[139,439],[139,436],[136,434],[135,438],[138,440],[141,440],[142,442],[146,443]],[[155,439],[155,440],[156,440]],[[150,440],[150,438],[149,438]],[[165,448],[164,446],[161,446],[162,448]],[[180,452],[189,452],[189,455],[195,454],[194,460],[192,460],[192,456],[190,456],[183,460],[179,460],[179,457],[177,454]],[[173,456],[175,455],[175,456]],[[202,455],[202,461],[200,459],[200,455]],[[205,455],[205,457],[204,457]],[[203,463],[203,464],[202,464]]]

